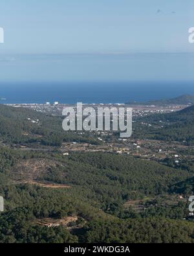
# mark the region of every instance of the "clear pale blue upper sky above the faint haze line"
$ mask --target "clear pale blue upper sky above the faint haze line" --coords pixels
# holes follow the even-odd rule
[[[189,52],[193,0],[1,0],[3,53]]]

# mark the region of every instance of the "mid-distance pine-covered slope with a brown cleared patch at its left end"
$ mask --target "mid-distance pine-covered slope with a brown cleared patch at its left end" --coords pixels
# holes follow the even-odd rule
[[[72,153],[17,156],[12,160],[10,178],[16,183],[54,183],[84,191],[107,211],[110,204],[167,192],[178,181],[189,178],[185,171],[171,169],[155,162],[108,153]],[[113,211],[114,212],[114,211]],[[113,213],[112,212],[112,213]]]

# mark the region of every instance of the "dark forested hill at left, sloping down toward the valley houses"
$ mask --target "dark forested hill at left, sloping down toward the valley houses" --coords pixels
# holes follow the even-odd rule
[[[0,141],[6,144],[41,143],[48,146],[61,146],[65,141],[100,143],[86,134],[64,132],[62,117],[53,117],[27,108],[14,108],[3,104],[0,104]]]

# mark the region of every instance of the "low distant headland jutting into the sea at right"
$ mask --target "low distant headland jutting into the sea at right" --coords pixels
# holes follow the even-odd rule
[[[127,102],[126,104],[135,104],[135,105],[193,105],[194,96],[185,94],[173,99],[161,99],[161,100],[151,100],[147,102]]]

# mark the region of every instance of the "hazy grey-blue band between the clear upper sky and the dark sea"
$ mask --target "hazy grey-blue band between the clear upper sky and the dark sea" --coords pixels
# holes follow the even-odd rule
[[[1,54],[10,82],[192,81],[194,53]]]

